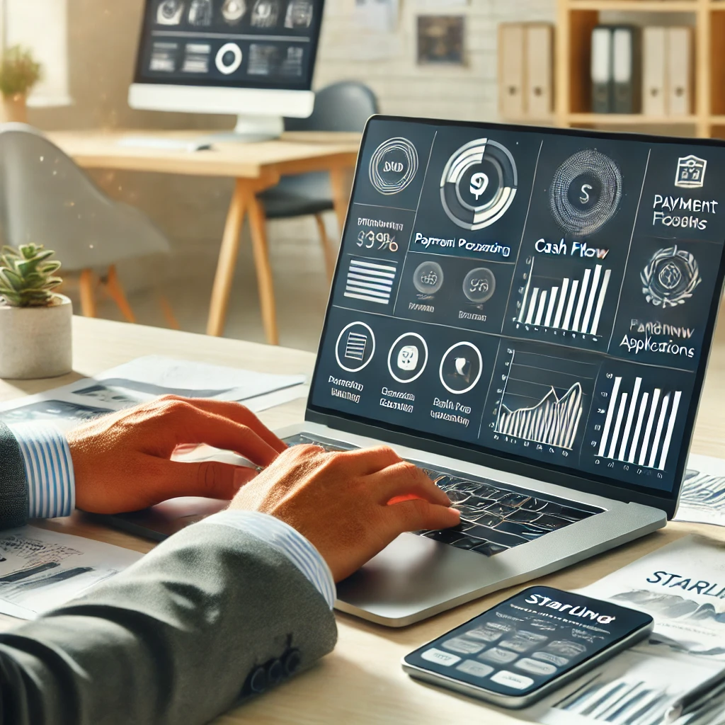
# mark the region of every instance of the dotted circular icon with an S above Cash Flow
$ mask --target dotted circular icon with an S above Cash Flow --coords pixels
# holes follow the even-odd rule
[[[558,225],[577,236],[600,230],[618,211],[622,174],[616,163],[595,149],[576,152],[552,178],[551,213]]]

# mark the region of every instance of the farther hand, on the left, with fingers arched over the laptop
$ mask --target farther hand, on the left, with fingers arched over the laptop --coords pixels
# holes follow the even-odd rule
[[[75,502],[91,513],[136,511],[177,496],[231,499],[257,475],[250,468],[170,460],[206,443],[266,466],[286,445],[243,405],[167,395],[104,415],[67,434]]]

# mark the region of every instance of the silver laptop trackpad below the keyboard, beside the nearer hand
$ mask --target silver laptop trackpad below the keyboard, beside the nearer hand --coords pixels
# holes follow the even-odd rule
[[[505,578],[502,558],[402,534],[337,585],[343,611],[405,617]]]

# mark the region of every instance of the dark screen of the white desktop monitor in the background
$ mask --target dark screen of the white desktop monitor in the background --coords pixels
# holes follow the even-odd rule
[[[323,0],[147,0],[136,83],[309,91]]]

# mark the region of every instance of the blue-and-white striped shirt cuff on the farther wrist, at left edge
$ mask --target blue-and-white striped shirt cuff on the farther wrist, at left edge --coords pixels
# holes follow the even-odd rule
[[[75,508],[75,477],[65,436],[51,423],[15,423],[9,428],[25,466],[28,518],[70,516]]]

